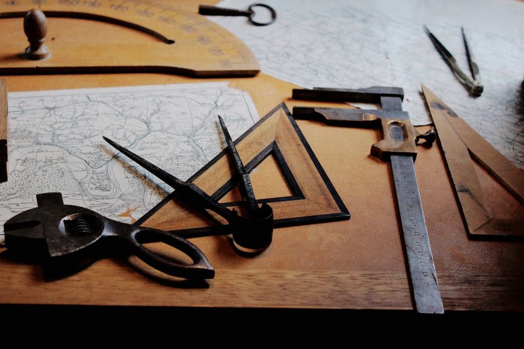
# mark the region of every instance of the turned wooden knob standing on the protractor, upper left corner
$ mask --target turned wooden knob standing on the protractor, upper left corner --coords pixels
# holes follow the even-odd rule
[[[26,57],[30,60],[48,58],[51,52],[46,46],[47,18],[39,9],[33,8],[24,17],[24,32],[29,41]]]

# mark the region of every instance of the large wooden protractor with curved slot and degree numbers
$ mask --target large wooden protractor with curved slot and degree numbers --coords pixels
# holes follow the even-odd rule
[[[0,2],[0,75],[160,72],[253,76],[253,52],[204,16],[148,0],[7,0]],[[23,17],[47,17],[51,55],[24,56]],[[70,28],[70,30],[63,30]],[[122,38],[125,38],[122,40]]]

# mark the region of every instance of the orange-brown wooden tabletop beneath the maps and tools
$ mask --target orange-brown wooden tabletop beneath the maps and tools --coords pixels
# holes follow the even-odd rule
[[[9,91],[202,81],[168,74],[5,78]],[[252,96],[259,115],[281,102],[290,109],[344,106],[294,101],[291,90],[299,86],[265,74],[227,81]],[[203,285],[166,279],[160,284],[114,259],[46,283],[39,266],[11,261],[0,250],[0,303],[412,309],[389,165],[369,154],[379,131],[297,123],[350,220],[278,228],[269,249],[255,258],[238,256],[224,236],[191,239],[216,270],[215,279]],[[418,152],[417,178],[445,310],[524,310],[524,243],[468,239],[439,148]],[[511,212],[512,196],[481,167],[475,165],[475,172],[492,213]],[[264,173],[253,174],[253,185],[272,193],[274,184]]]

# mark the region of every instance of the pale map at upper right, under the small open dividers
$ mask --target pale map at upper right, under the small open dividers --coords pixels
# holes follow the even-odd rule
[[[247,8],[250,0],[219,5]],[[241,38],[263,72],[311,87],[403,87],[414,125],[430,122],[421,83],[512,162],[524,167],[524,3],[503,0],[267,0],[277,20],[211,17]],[[264,9],[256,7],[263,12]],[[262,21],[262,20],[260,20]],[[472,98],[423,30],[427,25],[468,73],[461,26],[484,92]]]

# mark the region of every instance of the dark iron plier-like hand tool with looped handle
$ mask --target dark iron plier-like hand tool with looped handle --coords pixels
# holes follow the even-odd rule
[[[198,247],[177,234],[132,226],[83,207],[64,205],[60,193],[38,194],[37,203],[37,208],[18,213],[4,224],[7,251],[14,257],[78,271],[94,262],[102,250],[108,250],[113,255],[134,254],[172,276],[209,279],[215,275]],[[179,263],[143,245],[152,241],[174,247],[193,263]]]

